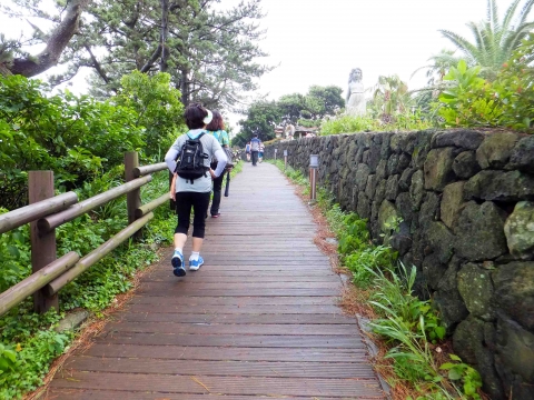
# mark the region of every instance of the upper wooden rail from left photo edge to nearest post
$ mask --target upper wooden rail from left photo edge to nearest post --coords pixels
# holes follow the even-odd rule
[[[77,202],[78,196],[75,192],[67,192],[13,211],[6,212],[4,214],[0,216],[0,233],[19,228],[39,218],[50,216],[51,213],[65,210]]]

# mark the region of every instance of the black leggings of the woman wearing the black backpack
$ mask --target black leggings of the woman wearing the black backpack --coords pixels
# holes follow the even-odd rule
[[[175,233],[187,234],[189,230],[189,220],[192,218],[192,237],[204,239],[206,231],[206,212],[209,204],[209,192],[178,192],[176,193],[176,213],[178,214],[178,224]]]

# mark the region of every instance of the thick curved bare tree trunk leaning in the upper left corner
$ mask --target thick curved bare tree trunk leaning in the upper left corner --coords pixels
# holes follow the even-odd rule
[[[81,13],[90,1],[69,1],[65,19],[50,34],[47,48],[38,56],[14,59],[8,67],[11,73],[30,78],[56,66],[70,39],[77,32]]]

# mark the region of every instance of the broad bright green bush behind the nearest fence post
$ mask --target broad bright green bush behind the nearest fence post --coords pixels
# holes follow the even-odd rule
[[[26,204],[29,170],[52,170],[60,188],[72,189],[144,144],[134,110],[47,90],[20,76],[0,77],[0,206],[8,209]]]

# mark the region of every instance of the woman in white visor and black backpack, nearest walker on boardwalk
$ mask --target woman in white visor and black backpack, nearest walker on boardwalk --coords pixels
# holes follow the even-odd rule
[[[191,208],[192,252],[189,257],[189,270],[196,271],[204,264],[200,257],[206,229],[206,211],[211,193],[211,180],[220,177],[226,167],[226,153],[217,139],[204,129],[211,122],[211,111],[198,103],[191,103],[185,111],[189,131],[178,139],[165,154],[165,162],[175,173],[170,197],[176,201],[178,224],[175,229],[175,252],[171,264],[177,277],[186,274],[184,266],[184,246],[189,230]],[[217,169],[210,168],[210,160],[217,157]]]

